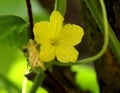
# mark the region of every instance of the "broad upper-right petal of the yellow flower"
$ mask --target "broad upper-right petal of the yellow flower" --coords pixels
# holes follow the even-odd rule
[[[59,35],[60,43],[75,46],[81,42],[83,35],[84,31],[80,26],[67,24]]]

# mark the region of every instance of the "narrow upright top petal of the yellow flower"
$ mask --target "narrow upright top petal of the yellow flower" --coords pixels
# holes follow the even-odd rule
[[[61,29],[63,24],[63,17],[58,11],[53,11],[50,16],[50,31],[52,33],[53,38],[56,37]]]

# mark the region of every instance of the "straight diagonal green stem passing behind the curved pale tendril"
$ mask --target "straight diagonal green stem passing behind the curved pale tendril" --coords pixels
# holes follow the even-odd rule
[[[98,24],[98,27],[100,28],[101,32],[103,33],[103,18],[101,15],[101,10],[100,8],[96,5],[96,0],[84,0],[86,3],[87,7],[89,8],[92,16],[94,17],[96,23]],[[108,24],[109,27],[109,46],[115,55],[116,59],[118,62],[120,62],[120,42],[118,38],[116,37],[112,27],[110,24]]]

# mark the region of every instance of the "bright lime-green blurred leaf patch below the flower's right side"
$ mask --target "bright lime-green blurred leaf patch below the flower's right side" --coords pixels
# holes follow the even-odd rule
[[[97,83],[96,72],[93,66],[79,65],[72,66],[72,71],[76,72],[76,83],[84,90],[89,90],[91,93],[100,93]]]

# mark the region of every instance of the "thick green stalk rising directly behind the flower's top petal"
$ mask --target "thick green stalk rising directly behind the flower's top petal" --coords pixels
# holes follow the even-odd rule
[[[67,0],[55,0],[54,10],[59,11],[63,16],[66,12]]]

